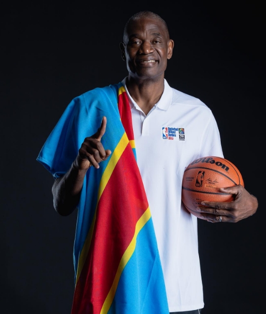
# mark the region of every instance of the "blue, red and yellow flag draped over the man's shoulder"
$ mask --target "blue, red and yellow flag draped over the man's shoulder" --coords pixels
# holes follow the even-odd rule
[[[51,156],[45,158],[45,146],[63,141],[61,150],[70,151],[75,128],[78,149],[84,136],[79,126],[84,128],[89,119],[100,125],[99,114],[107,117],[101,141],[105,149],[112,148],[112,154],[99,169],[88,170],[78,207],[71,314],[169,314],[151,211],[136,163],[127,93],[119,83],[82,96],[63,114],[52,132],[57,135],[47,140],[37,158],[54,176],[64,173],[66,166],[58,166],[60,162],[54,163],[57,166],[47,162]],[[68,136],[55,140],[63,129]],[[62,168],[57,174],[56,167]]]

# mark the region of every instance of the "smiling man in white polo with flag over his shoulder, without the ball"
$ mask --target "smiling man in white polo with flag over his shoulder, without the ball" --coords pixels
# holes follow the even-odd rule
[[[128,76],[73,99],[38,155],[57,212],[78,210],[72,314],[200,313],[197,217],[236,222],[257,210],[241,185],[197,217],[184,208],[186,167],[223,152],[211,110],[164,77],[173,47],[159,15],[134,14],[120,43]]]

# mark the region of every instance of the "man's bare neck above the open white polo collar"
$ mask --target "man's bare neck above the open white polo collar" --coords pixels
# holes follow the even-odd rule
[[[164,77],[160,79],[127,79],[127,89],[141,110],[147,115],[164,92]]]

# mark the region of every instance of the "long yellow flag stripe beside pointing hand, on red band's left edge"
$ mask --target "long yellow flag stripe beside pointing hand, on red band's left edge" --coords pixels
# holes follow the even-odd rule
[[[119,141],[119,143],[117,144],[117,146],[114,149],[114,152],[112,153],[110,160],[107,164],[107,167],[105,168],[101,179],[100,179],[100,185],[99,185],[99,191],[98,191],[98,201],[97,201],[97,206],[100,200],[100,197],[103,193],[103,190],[106,187],[106,184],[108,183],[110,176],[119,160],[119,158],[121,157],[122,153],[124,152],[125,148],[127,147],[129,143],[128,137],[126,132],[124,133],[124,135],[122,136],[121,140]],[[86,240],[83,244],[83,248],[82,251],[80,253],[79,259],[78,259],[78,269],[77,269],[77,277],[76,277],[76,283],[79,279],[80,273],[82,271],[82,268],[84,266],[86,257],[88,255],[89,249],[90,249],[90,245],[91,245],[91,241],[92,241],[92,235],[93,235],[93,230],[94,230],[94,225],[95,225],[95,220],[96,220],[96,212],[97,212],[97,206],[96,206],[96,210],[93,216],[93,220],[92,220],[92,224],[90,227],[90,230],[88,232],[88,235],[86,237]]]

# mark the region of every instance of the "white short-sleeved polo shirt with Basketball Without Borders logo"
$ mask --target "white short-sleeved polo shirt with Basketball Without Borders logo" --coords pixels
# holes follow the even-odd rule
[[[223,157],[211,110],[171,88],[147,115],[130,96],[137,164],[155,228],[170,312],[203,308],[197,217],[181,203],[185,168],[204,156]]]

